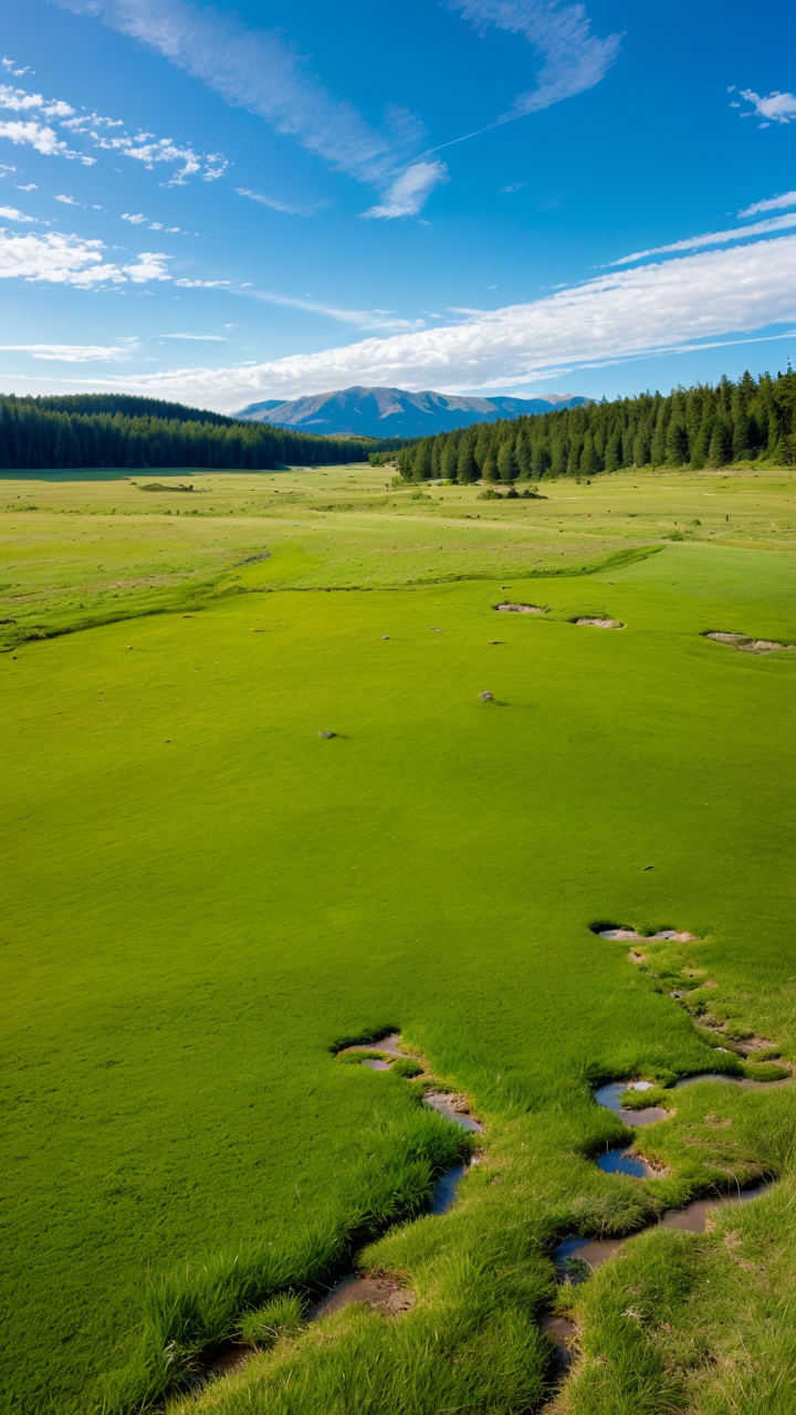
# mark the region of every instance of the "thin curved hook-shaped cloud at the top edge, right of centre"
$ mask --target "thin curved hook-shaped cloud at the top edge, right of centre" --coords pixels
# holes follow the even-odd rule
[[[609,34],[606,40],[591,34],[591,21],[582,4],[562,4],[559,0],[448,0],[448,7],[482,31],[494,24],[497,30],[521,34],[542,57],[537,86],[518,93],[508,112],[490,127],[538,113],[593,88],[616,61],[622,42],[620,34]],[[467,134],[472,136],[476,134]]]

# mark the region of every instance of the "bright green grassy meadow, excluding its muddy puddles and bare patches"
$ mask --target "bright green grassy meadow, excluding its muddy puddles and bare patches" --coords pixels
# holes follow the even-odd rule
[[[661,1177],[599,1170],[596,1081],[718,1054],[589,924],[691,931],[660,968],[796,1061],[796,655],[701,637],[796,641],[796,478],[544,491],[0,480],[10,1415],[792,1415],[795,1087],[678,1091]],[[392,1027],[487,1126],[445,1217],[467,1138],[333,1056]],[[559,1237],[761,1177],[557,1286]],[[180,1394],[365,1244],[411,1312],[293,1306]]]

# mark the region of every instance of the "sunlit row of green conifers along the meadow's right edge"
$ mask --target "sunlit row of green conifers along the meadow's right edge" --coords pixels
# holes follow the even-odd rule
[[[623,467],[796,466],[796,374],[751,374],[496,423],[404,446],[405,481],[588,480]]]

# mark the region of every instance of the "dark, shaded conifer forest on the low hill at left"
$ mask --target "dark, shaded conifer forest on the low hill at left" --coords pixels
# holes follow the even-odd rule
[[[285,464],[367,461],[401,439],[322,437],[239,422],[154,398],[0,395],[0,467],[207,467],[261,471]]]

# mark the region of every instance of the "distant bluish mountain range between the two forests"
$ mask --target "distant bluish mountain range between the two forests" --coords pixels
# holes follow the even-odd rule
[[[431,437],[470,423],[499,417],[550,413],[554,408],[579,408],[588,398],[547,393],[542,398],[459,398],[449,393],[408,393],[404,388],[343,388],[280,403],[269,398],[249,403],[237,417],[306,433],[363,433],[365,437]]]

